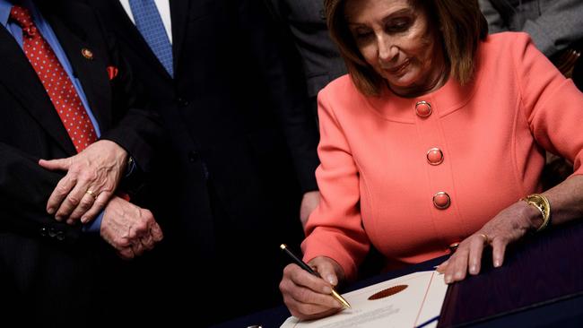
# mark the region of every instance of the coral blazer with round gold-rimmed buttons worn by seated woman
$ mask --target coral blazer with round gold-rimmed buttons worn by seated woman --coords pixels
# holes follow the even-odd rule
[[[423,103],[424,101],[424,103]],[[448,254],[499,211],[541,191],[545,153],[583,173],[583,94],[525,33],[489,36],[474,80],[405,99],[363,96],[348,75],[318,94],[322,195],[302,243],[349,279],[370,243],[387,268]]]

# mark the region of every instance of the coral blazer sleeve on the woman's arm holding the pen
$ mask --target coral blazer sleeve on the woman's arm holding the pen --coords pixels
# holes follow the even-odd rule
[[[346,278],[353,280],[358,265],[369,252],[370,241],[362,228],[359,171],[329,101],[335,94],[328,89],[318,95],[321,164],[316,177],[320,204],[309,217],[307,237],[301,247],[304,260],[330,257],[343,267]]]

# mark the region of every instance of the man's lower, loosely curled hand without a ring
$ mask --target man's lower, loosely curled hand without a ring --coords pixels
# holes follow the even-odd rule
[[[151,211],[117,196],[105,208],[100,235],[126,260],[151,250],[163,237]]]

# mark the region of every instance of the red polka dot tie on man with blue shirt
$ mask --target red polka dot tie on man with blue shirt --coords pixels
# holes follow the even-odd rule
[[[14,5],[10,18],[22,27],[22,46],[29,62],[39,75],[48,98],[57,109],[58,116],[77,152],[83,151],[97,140],[91,119],[79,98],[73,83],[58,61],[55,52],[32,22],[28,9]]]

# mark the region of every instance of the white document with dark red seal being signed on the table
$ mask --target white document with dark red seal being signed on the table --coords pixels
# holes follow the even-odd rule
[[[439,272],[414,272],[343,294],[352,309],[311,321],[291,316],[281,328],[436,327],[447,290]]]

